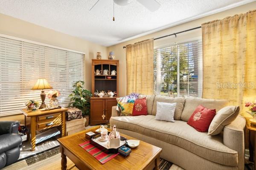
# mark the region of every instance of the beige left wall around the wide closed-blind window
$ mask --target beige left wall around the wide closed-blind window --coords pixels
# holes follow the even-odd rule
[[[96,52],[102,52],[102,57],[107,59],[107,48],[93,42],[82,40],[54,31],[49,28],[28,23],[4,14],[0,14],[0,34],[7,34],[49,45],[68,48],[85,53],[85,87],[91,90],[91,59],[95,58]],[[82,64],[82,63],[81,63]],[[0,117],[0,121],[20,120],[23,122],[23,115]]]

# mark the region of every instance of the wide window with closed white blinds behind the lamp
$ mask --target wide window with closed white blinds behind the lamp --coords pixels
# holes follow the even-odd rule
[[[39,44],[0,37],[0,116],[21,113],[28,99],[41,102],[41,91],[31,90],[38,78],[60,91],[61,106],[74,82],[84,80],[84,54]]]

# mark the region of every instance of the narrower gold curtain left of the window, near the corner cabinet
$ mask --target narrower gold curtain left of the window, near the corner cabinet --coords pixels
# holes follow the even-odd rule
[[[126,46],[126,93],[153,94],[154,40]]]

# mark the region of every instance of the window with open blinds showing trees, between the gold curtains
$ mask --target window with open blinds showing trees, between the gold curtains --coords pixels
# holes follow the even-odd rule
[[[154,93],[201,97],[201,40],[154,49]]]

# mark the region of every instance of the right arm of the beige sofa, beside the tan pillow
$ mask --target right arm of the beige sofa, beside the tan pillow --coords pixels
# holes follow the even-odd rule
[[[238,168],[244,169],[244,127],[245,119],[243,116],[237,118],[224,127],[223,143],[230,149],[238,152]]]

